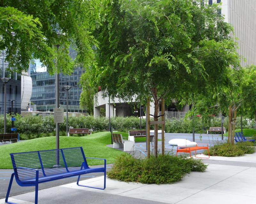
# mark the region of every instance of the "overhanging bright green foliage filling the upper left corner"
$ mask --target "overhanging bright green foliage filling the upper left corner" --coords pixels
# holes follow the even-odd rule
[[[76,63],[93,64],[92,36],[99,0],[4,0],[0,2],[0,49],[14,71],[40,59],[48,72],[71,72]],[[69,47],[76,50],[75,61]]]

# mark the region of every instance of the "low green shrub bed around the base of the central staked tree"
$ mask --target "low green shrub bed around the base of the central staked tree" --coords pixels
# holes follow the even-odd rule
[[[120,155],[112,169],[108,171],[110,179],[143,184],[164,184],[181,180],[191,171],[205,171],[207,165],[201,160],[173,155],[159,155],[150,158],[133,158]]]

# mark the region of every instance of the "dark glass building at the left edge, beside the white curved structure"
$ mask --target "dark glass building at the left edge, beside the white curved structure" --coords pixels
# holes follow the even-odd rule
[[[8,71],[8,62],[5,62],[5,51],[0,51],[0,78],[11,78],[6,84],[6,113],[20,113],[21,75]],[[13,110],[11,110],[13,101]],[[4,83],[0,80],[0,114],[4,114]]]

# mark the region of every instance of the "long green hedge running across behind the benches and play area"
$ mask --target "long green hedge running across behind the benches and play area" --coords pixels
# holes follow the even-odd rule
[[[17,128],[17,132],[23,134],[41,134],[41,133],[53,133],[55,131],[55,123],[53,116],[36,116],[30,115],[21,117],[16,115],[16,121],[14,127]],[[151,118],[151,120],[153,120]],[[208,117],[200,118],[195,117],[194,120],[188,119],[166,119],[165,121],[165,132],[167,133],[191,133],[194,125],[196,133],[206,133],[206,130],[210,127],[220,127],[220,118]],[[237,118],[236,129],[240,127],[240,118]],[[10,115],[6,117],[6,129],[10,132],[12,123]],[[68,126],[70,128],[89,128],[93,132],[107,131],[108,130],[108,118],[93,116],[80,116],[80,117],[69,117]],[[138,117],[112,117],[111,126],[114,130],[128,132],[131,129],[140,129],[140,118]],[[228,120],[224,122],[224,127],[228,128]],[[141,120],[141,128],[146,129],[145,119]],[[154,127],[151,126],[151,129]],[[159,129],[161,125],[159,125]],[[243,128],[252,128],[247,124],[247,121],[243,121]],[[60,123],[60,131],[66,131],[66,118],[64,117],[64,123]],[[4,116],[0,115],[0,132],[4,132]]]

